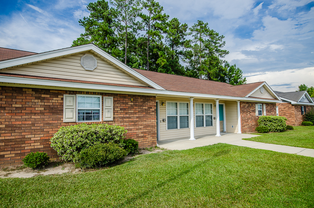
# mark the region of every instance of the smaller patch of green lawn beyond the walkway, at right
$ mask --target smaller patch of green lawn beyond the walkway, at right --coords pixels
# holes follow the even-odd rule
[[[314,126],[294,126],[295,130],[259,134],[244,140],[314,149]]]

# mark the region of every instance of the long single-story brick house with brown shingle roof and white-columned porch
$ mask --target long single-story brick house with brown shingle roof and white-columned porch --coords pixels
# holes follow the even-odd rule
[[[276,115],[265,82],[227,83],[132,69],[93,44],[44,53],[0,48],[0,167],[29,152],[57,153],[50,138],[81,122],[121,125],[139,147],[157,140],[253,132]]]

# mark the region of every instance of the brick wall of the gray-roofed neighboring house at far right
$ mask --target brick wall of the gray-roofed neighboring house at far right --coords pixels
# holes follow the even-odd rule
[[[301,105],[292,105],[290,103],[277,103],[279,116],[287,118],[286,124],[292,126],[300,126],[303,121],[303,115],[301,115]],[[305,106],[306,112],[308,112],[312,106]]]

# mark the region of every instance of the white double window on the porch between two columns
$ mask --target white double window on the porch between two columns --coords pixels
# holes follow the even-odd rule
[[[213,104],[195,103],[195,126],[213,126]]]

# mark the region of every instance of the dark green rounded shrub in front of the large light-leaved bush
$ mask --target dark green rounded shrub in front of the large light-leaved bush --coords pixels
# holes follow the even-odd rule
[[[119,161],[127,152],[117,144],[109,142],[95,144],[80,152],[77,161],[82,168],[100,167]]]

